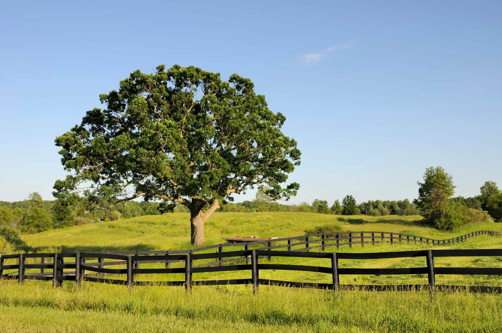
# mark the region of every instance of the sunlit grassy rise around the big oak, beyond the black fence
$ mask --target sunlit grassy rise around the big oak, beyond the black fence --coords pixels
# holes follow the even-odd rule
[[[22,238],[35,251],[61,248],[65,252],[190,249],[188,213],[141,216],[65,229],[53,229]],[[441,232],[421,216],[336,216],[314,213],[214,213],[205,224],[206,245],[219,244],[223,237],[290,237],[324,224],[337,224],[344,231],[399,232],[431,238],[450,238],[475,230],[500,230],[486,222],[465,225],[455,232]]]

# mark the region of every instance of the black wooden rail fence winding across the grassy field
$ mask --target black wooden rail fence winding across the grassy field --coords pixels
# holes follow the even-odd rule
[[[355,234],[355,235],[354,235]],[[370,234],[370,236],[366,236]],[[390,234],[390,236],[386,236]],[[78,253],[21,253],[5,255],[0,258],[0,276],[8,279],[17,279],[20,283],[25,279],[53,281],[54,286],[60,286],[62,281],[71,280],[79,284],[81,281],[92,281],[102,283],[112,283],[128,285],[178,285],[190,289],[193,285],[221,285],[221,284],[253,284],[254,290],[258,290],[260,284],[283,285],[290,287],[313,287],[324,289],[344,289],[357,288],[368,290],[414,290],[421,288],[444,289],[444,288],[468,288],[471,291],[480,292],[502,292],[500,286],[443,286],[435,284],[436,274],[469,274],[469,275],[502,275],[502,268],[475,268],[475,267],[434,267],[434,257],[487,257],[501,256],[502,249],[482,249],[482,250],[418,250],[402,252],[380,252],[380,253],[324,253],[308,252],[309,249],[322,248],[324,250],[330,246],[337,248],[343,245],[364,244],[376,242],[421,242],[433,245],[450,244],[452,242],[462,242],[469,237],[477,235],[497,235],[493,231],[477,231],[447,240],[433,240],[425,237],[402,235],[384,232],[344,232],[344,233],[323,233],[306,235],[291,238],[282,238],[266,241],[266,248],[254,248],[256,245],[264,244],[260,242],[248,242],[241,244],[218,244],[191,250],[172,251],[120,251],[120,252],[78,252]],[[302,240],[294,242],[294,240]],[[281,242],[287,244],[277,244]],[[430,242],[430,243],[429,243]],[[276,245],[274,245],[276,243]],[[312,245],[321,243],[320,245]],[[225,247],[243,246],[244,250],[223,251]],[[301,246],[301,248],[297,248]],[[274,251],[283,248],[287,251]],[[199,253],[218,249],[216,253]],[[300,252],[300,251],[307,252]],[[296,258],[327,258],[330,259],[330,266],[308,266],[290,264],[264,264],[259,259],[268,257],[296,257]],[[410,268],[339,268],[338,259],[385,259],[385,258],[411,258],[425,257],[427,267]],[[66,261],[65,261],[66,258]],[[226,258],[226,259],[225,259]],[[27,263],[40,259],[40,263]],[[50,262],[47,262],[49,259]],[[105,261],[105,259],[107,261]],[[211,260],[207,262],[207,260]],[[216,259],[216,260],[214,260]],[[96,260],[89,262],[89,260]],[[204,261],[202,264],[194,264],[195,260]],[[8,264],[7,261],[16,261],[15,264]],[[87,262],[86,262],[87,261]],[[184,267],[170,267],[172,262],[184,262]],[[223,265],[230,262],[245,262],[245,264]],[[164,268],[141,268],[141,264],[165,263]],[[105,268],[110,265],[125,265],[126,268]],[[216,265],[216,266],[215,266]],[[26,270],[40,269],[37,273],[27,273]],[[45,269],[52,270],[45,272]],[[332,283],[312,283],[260,279],[260,270],[296,270],[319,272],[332,275]],[[14,270],[13,272],[6,272]],[[197,280],[193,281],[193,273],[211,273],[223,271],[250,270],[250,278],[244,279],[220,279],[220,280]],[[6,273],[4,273],[6,272]],[[86,273],[91,272],[91,273]],[[135,281],[136,274],[184,274],[184,279],[179,281]],[[398,275],[398,274],[427,274],[428,283],[418,285],[341,285],[339,275]],[[105,275],[116,278],[105,278]]]

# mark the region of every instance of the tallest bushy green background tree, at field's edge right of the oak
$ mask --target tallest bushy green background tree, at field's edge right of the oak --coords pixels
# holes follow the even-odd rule
[[[455,186],[453,177],[448,175],[441,167],[430,167],[425,170],[423,183],[417,182],[418,207],[422,211],[422,216],[431,223],[435,223],[447,214],[449,198],[453,196]],[[456,214],[453,214],[456,216]]]

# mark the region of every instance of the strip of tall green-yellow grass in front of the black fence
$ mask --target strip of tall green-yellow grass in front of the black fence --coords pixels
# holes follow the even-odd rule
[[[502,298],[260,286],[44,288],[0,282],[3,331],[499,331]]]

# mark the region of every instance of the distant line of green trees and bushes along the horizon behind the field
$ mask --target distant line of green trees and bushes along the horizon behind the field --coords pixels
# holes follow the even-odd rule
[[[352,195],[342,201],[335,200],[329,206],[326,200],[315,199],[312,204],[282,205],[267,196],[266,188],[260,189],[256,198],[241,203],[222,203],[219,212],[306,212],[335,215],[422,215],[438,229],[452,230],[469,222],[482,222],[489,216],[502,222],[502,192],[495,182],[487,181],[475,197],[452,197],[453,180],[441,167],[428,168],[424,182],[419,182],[419,198],[410,202],[404,200],[368,200],[356,203]],[[37,192],[27,200],[17,202],[0,201],[0,236],[9,228],[25,234],[64,228],[74,225],[116,221],[143,215],[159,215],[166,212],[189,212],[180,204],[164,206],[158,202],[121,202],[109,209],[88,209],[82,198],[58,198],[46,201]],[[107,202],[103,200],[102,206]],[[2,229],[3,228],[3,229]],[[3,230],[3,231],[2,231]],[[13,231],[9,231],[12,233]],[[7,235],[7,236],[6,236]],[[12,237],[11,237],[12,238]]]

